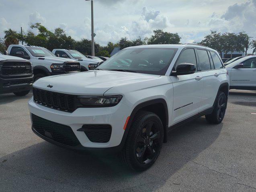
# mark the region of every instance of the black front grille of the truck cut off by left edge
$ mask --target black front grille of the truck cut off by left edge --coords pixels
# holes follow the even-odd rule
[[[6,60],[2,61],[1,74],[3,76],[30,75],[32,73],[31,63],[27,61]]]

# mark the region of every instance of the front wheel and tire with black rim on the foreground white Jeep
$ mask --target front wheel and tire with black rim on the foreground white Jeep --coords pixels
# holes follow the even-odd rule
[[[133,170],[150,168],[160,154],[163,140],[164,128],[160,118],[152,112],[139,112],[127,136],[123,161]]]

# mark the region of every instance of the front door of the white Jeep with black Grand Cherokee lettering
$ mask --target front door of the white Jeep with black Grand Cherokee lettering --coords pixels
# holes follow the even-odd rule
[[[182,50],[174,68],[180,63],[191,63],[197,66],[195,49]],[[197,71],[194,74],[170,76],[170,78],[174,89],[172,123],[176,124],[198,114],[203,92],[203,77],[201,72]]]

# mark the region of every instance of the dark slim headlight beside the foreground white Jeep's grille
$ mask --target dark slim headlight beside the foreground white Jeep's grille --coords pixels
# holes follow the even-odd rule
[[[78,96],[80,104],[87,107],[112,107],[117,105],[123,96]]]

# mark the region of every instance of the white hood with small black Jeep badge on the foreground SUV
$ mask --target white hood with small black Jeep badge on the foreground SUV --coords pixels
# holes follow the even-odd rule
[[[72,74],[47,76],[37,80],[33,86],[43,90],[74,95],[103,95],[114,86],[143,82],[159,78],[159,75],[90,70]],[[53,86],[52,88],[47,85]]]

